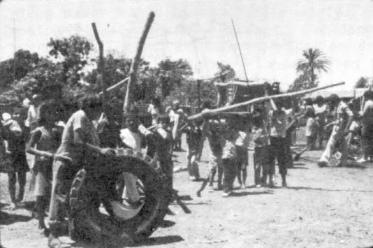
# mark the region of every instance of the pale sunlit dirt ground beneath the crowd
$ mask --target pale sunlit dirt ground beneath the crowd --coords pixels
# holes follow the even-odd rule
[[[175,155],[175,166],[185,165],[186,152]],[[207,190],[198,198],[200,182],[189,182],[185,171],[176,173],[175,189],[191,196],[192,200],[184,201],[191,214],[170,205],[175,215],[168,215],[165,225],[136,247],[372,247],[373,164],[319,168],[320,155],[321,151],[305,152],[295,168],[288,170],[288,187],[278,187],[272,194],[251,186],[235,190],[229,198],[222,198],[221,191]],[[205,145],[202,176],[207,175],[207,160]],[[254,183],[252,161],[248,174],[250,186]],[[279,177],[275,180],[280,184]],[[47,239],[27,210],[33,200],[31,192],[25,197],[25,207],[10,212],[4,210],[9,203],[5,174],[0,175],[0,183],[1,245],[46,247]]]

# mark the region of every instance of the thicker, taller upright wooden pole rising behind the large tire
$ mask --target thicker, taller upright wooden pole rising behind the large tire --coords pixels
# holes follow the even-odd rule
[[[131,69],[129,71],[129,82],[127,84],[126,95],[124,96],[124,104],[123,104],[123,112],[129,112],[131,109],[131,105],[133,105],[133,98],[134,98],[134,85],[136,84],[136,71],[138,69],[138,64],[140,63],[140,57],[142,54],[142,48],[144,48],[145,40],[147,38],[147,34],[149,33],[149,29],[152,26],[154,21],[155,14],[154,12],[149,13],[149,17],[147,17],[147,22],[144,27],[144,31],[142,31],[142,36],[140,41],[138,42],[138,49],[136,51],[135,57],[133,57]]]

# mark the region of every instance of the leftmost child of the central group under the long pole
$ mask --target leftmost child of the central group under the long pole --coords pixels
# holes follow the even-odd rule
[[[200,177],[196,156],[202,141],[202,130],[196,122],[191,122],[189,126],[184,129],[184,132],[186,133],[186,144],[188,144],[187,167],[189,171],[189,180],[196,181]]]

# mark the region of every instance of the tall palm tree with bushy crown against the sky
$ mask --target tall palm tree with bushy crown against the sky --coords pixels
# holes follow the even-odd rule
[[[327,72],[330,61],[319,49],[309,48],[308,50],[303,50],[302,55],[305,59],[300,59],[298,61],[297,72],[308,76],[309,80],[307,81],[309,85],[307,85],[307,88],[316,87],[317,75],[315,71],[319,73],[321,71]]]

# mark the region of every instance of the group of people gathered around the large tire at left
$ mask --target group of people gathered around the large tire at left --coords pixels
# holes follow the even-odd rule
[[[35,211],[38,219],[38,228],[43,233],[50,235],[50,247],[58,247],[58,230],[64,220],[63,212],[66,208],[66,196],[73,180],[73,176],[85,164],[93,164],[98,156],[114,156],[115,149],[103,147],[97,133],[94,120],[102,113],[101,100],[97,95],[87,94],[79,100],[79,110],[73,113],[64,126],[57,125],[59,108],[53,101],[45,101],[38,106],[38,118],[35,129],[29,133],[29,138],[24,138],[20,125],[8,115],[3,115],[1,125],[1,156],[10,156],[13,170],[8,173],[9,192],[13,208],[23,198],[26,184],[26,173],[29,170],[26,153],[34,155],[31,168],[33,173],[31,182],[34,188]],[[105,118],[101,118],[105,119]],[[140,123],[136,109],[125,116],[122,129],[113,131],[117,133],[120,142],[117,147],[131,148],[141,151],[147,145],[147,154],[156,158],[166,175],[167,198],[173,198],[173,139],[167,126],[168,115],[159,115],[157,125],[147,129]],[[112,122],[105,122],[109,129],[113,128]],[[98,124],[100,126],[100,124]],[[117,126],[117,125],[114,125]],[[101,125],[101,130],[105,128]],[[3,140],[7,140],[6,145]],[[27,142],[25,143],[25,141]],[[148,142],[147,140],[152,140]],[[8,153],[9,155],[7,155]],[[20,184],[18,197],[15,197],[15,180]],[[124,173],[124,198],[131,207],[140,205],[140,195],[136,187],[137,178],[130,173]],[[50,228],[44,223],[45,210],[49,205]],[[61,215],[62,214],[62,215]]]

